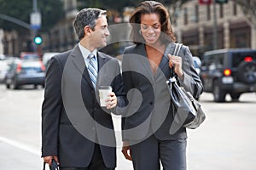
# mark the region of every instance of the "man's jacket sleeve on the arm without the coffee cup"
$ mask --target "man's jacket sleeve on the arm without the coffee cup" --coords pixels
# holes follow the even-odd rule
[[[42,105],[42,157],[57,156],[58,131],[61,116],[61,65],[57,58],[50,60],[45,77]]]

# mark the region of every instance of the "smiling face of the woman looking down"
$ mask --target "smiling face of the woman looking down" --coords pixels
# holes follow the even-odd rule
[[[160,15],[142,14],[141,31],[147,44],[154,45],[158,42],[161,33]]]

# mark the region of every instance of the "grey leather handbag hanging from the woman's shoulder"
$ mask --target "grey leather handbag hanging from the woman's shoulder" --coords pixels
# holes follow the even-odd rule
[[[183,44],[176,43],[173,55],[177,55]],[[179,127],[196,128],[205,121],[206,115],[201,109],[201,104],[177,83],[176,75],[171,68],[171,77],[166,82],[170,89],[172,108],[174,111],[174,122]]]

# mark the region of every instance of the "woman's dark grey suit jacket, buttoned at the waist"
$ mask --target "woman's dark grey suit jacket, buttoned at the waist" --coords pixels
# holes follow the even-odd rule
[[[154,75],[144,44],[125,48],[122,74],[129,105],[122,120],[124,140],[142,140],[151,134],[163,140],[186,138],[184,127],[175,133],[170,131],[174,113],[166,85],[166,80],[171,76],[167,54],[173,54],[174,48],[175,43],[167,44],[164,57]],[[184,80],[179,83],[198,97],[202,93],[202,84],[195,71],[189,48],[183,46],[178,55],[182,57],[184,73]]]

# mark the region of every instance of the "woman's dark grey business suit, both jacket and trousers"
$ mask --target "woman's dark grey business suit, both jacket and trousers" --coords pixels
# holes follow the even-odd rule
[[[126,116],[122,121],[123,138],[131,144],[131,157],[135,169],[158,169],[158,163],[152,163],[150,160],[158,157],[161,161],[166,160],[163,162],[166,169],[186,168],[186,129],[180,127],[175,132],[170,131],[173,113],[166,85],[166,80],[170,77],[167,54],[172,54],[174,48],[174,43],[166,46],[165,56],[161,59],[155,74],[151,71],[144,44],[125,48],[122,63],[125,93],[134,88],[141,93],[130,92]],[[189,48],[183,46],[178,55],[182,57],[184,73],[184,80],[180,81],[180,85],[198,97],[202,91],[202,84],[193,66]],[[159,150],[161,144],[163,147]]]

